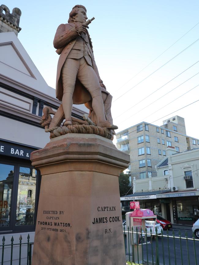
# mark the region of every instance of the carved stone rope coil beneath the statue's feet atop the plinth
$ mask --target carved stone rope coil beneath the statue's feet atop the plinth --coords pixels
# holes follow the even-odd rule
[[[107,132],[106,128],[101,128],[93,125],[74,124],[63,127],[54,127],[51,129],[45,129],[46,132],[50,132],[50,138],[55,138],[67,133],[82,133],[82,134],[97,134],[107,139],[113,140],[113,136]]]

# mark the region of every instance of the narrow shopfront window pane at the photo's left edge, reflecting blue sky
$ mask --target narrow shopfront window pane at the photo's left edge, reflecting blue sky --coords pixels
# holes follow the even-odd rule
[[[0,227],[10,225],[14,166],[0,164]]]

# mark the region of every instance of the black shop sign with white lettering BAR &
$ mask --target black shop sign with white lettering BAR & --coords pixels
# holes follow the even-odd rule
[[[14,156],[29,160],[30,153],[32,151],[35,151],[35,149],[10,142],[0,141],[0,155]]]

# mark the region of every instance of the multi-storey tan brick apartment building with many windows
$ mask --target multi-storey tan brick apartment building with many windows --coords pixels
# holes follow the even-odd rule
[[[116,141],[119,150],[130,154],[130,185],[133,178],[155,177],[155,167],[166,156],[168,147],[178,153],[199,147],[199,139],[186,135],[184,118],[179,116],[164,120],[160,127],[143,121],[117,133]],[[159,186],[152,187],[158,189]]]

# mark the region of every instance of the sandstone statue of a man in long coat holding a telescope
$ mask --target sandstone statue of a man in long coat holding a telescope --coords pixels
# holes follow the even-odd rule
[[[57,66],[56,97],[62,101],[64,125],[71,125],[74,104],[85,104],[97,126],[117,129],[112,124],[111,100],[95,63],[92,42],[88,34],[86,8],[73,7],[68,24],[59,25],[54,48],[60,54]]]

